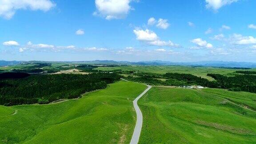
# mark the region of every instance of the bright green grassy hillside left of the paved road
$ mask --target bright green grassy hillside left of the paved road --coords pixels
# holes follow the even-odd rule
[[[145,88],[120,81],[79,100],[0,107],[0,143],[129,143],[136,121],[132,100]],[[13,113],[8,108],[17,113],[6,116]]]

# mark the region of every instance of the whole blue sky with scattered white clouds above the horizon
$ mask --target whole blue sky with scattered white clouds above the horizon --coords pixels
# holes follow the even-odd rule
[[[0,60],[256,62],[256,0],[0,0]]]

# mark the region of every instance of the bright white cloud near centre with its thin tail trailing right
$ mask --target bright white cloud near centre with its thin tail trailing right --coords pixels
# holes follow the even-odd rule
[[[140,41],[144,41],[149,45],[153,46],[168,46],[168,47],[179,47],[179,44],[174,44],[172,41],[163,41],[160,40],[155,32],[150,31],[148,29],[135,29],[133,30],[136,35],[136,39]]]

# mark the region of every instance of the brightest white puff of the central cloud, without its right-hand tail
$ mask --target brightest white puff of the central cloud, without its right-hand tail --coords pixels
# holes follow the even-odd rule
[[[156,35],[156,33],[153,31],[150,31],[148,29],[146,29],[146,30],[135,29],[135,30],[133,30],[133,32],[136,35],[137,40],[142,40],[142,41],[158,40],[158,36]]]

